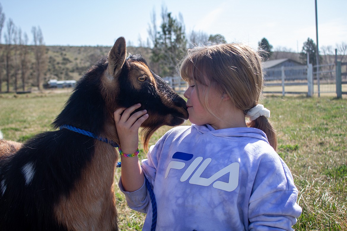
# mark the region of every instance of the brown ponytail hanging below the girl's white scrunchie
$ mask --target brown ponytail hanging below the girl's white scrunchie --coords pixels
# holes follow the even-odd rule
[[[255,120],[249,121],[247,123],[247,126],[262,130],[266,134],[266,137],[268,137],[268,141],[272,148],[276,150],[277,134],[268,118],[266,118],[265,116],[259,116]]]

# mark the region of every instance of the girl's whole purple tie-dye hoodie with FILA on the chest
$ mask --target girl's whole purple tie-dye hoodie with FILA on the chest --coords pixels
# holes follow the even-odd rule
[[[301,214],[287,165],[256,128],[172,128],[142,161],[154,187],[156,230],[293,230]],[[124,189],[119,181],[119,187]],[[152,207],[145,184],[124,192],[130,208]]]

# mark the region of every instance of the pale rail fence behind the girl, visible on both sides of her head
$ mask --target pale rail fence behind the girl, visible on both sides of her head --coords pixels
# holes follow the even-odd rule
[[[347,63],[342,63],[342,66]],[[271,94],[313,94],[336,93],[340,98],[347,94],[347,73],[341,74],[341,62],[319,65],[319,72],[313,71],[317,66],[312,64],[302,66],[282,66],[281,68],[264,69],[264,93]],[[266,74],[271,72],[271,78]],[[342,76],[342,78],[341,78]],[[163,78],[176,92],[183,94],[187,89],[187,83],[179,76]],[[291,87],[289,87],[291,86]],[[293,86],[298,86],[297,88]],[[299,87],[301,86],[301,87]],[[307,87],[303,87],[307,86]],[[342,88],[342,86],[344,86]],[[277,87],[279,91],[267,91],[266,87]],[[280,87],[280,88],[278,88]]]

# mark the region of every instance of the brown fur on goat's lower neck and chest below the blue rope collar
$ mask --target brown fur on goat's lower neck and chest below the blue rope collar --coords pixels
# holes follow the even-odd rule
[[[82,169],[81,179],[68,196],[60,198],[55,208],[58,221],[71,230],[92,227],[95,230],[111,230],[116,224],[113,181],[118,153],[108,143],[94,142],[95,152]]]

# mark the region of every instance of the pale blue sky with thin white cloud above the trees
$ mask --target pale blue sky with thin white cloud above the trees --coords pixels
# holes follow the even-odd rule
[[[227,42],[256,47],[268,39],[274,50],[301,52],[307,38],[316,41],[314,0],[0,0],[33,44],[32,27],[40,27],[45,45],[112,46],[124,36],[127,44],[147,41],[151,15],[161,24],[162,7],[181,14],[185,32],[221,34]],[[347,1],[317,0],[318,45],[347,43]]]

